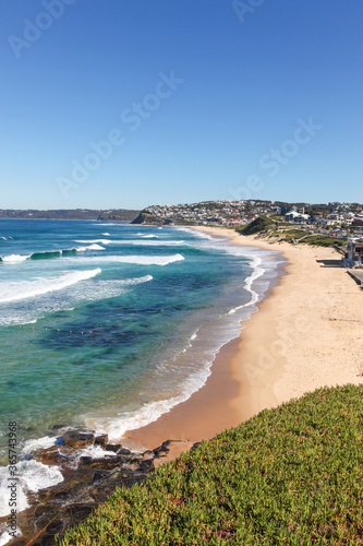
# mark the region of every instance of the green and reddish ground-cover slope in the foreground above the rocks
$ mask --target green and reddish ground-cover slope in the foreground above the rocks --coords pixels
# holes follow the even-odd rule
[[[363,544],[363,385],[319,389],[118,490],[65,545]]]

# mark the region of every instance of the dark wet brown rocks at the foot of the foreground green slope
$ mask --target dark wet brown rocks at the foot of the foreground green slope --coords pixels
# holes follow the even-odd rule
[[[53,429],[56,434],[60,431]],[[61,536],[88,518],[118,487],[143,482],[177,443],[181,442],[167,440],[154,450],[135,452],[122,443],[108,443],[107,435],[95,436],[90,430],[66,430],[55,437],[55,446],[37,450],[31,456],[44,464],[57,464],[64,480],[38,491],[32,499],[32,508],[19,514],[17,524],[23,535],[9,546],[57,544],[56,535]],[[83,455],[82,450],[92,444],[104,449],[105,456]]]

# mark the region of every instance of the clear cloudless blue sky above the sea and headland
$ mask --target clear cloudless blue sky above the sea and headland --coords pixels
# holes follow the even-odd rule
[[[363,202],[362,0],[14,0],[0,209]]]

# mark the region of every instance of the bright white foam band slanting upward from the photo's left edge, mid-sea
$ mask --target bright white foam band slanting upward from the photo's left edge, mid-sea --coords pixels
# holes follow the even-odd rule
[[[73,284],[92,278],[99,273],[101,273],[101,269],[97,268],[88,271],[74,271],[60,276],[36,278],[34,281],[0,283],[0,304],[20,301],[41,296],[49,292],[61,290]]]

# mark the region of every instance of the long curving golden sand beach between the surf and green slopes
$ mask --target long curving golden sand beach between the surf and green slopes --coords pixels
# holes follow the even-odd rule
[[[240,337],[221,348],[206,384],[157,422],[126,435],[154,448],[170,439],[210,439],[264,408],[324,385],[363,382],[363,290],[331,248],[313,248],[195,227],[231,244],[278,250],[287,275],[242,322]],[[170,454],[187,449],[182,443]]]

